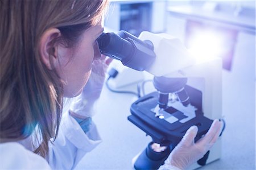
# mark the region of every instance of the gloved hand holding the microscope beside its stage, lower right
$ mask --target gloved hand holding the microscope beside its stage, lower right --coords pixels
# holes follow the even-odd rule
[[[198,131],[197,126],[190,127],[183,139],[174,148],[164,167],[171,169],[187,169],[190,165],[201,159],[207,151],[213,146],[220,135],[222,122],[214,120],[207,134],[195,143],[195,137]]]

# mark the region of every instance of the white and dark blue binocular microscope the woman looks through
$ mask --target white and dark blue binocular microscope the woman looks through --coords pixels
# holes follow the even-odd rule
[[[135,169],[158,169],[189,127],[198,127],[195,140],[199,140],[213,119],[222,117],[220,58],[196,60],[179,39],[146,31],[138,38],[126,31],[104,33],[97,42],[102,54],[154,75],[156,92],[139,98],[130,107],[128,120],[152,138],[135,161]],[[151,146],[155,143],[164,150],[154,151]],[[220,156],[218,139],[191,169]]]

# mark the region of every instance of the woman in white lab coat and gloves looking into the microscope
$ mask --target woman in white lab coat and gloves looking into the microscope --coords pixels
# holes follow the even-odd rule
[[[1,1],[1,169],[72,169],[100,143],[88,108],[99,96],[110,63],[96,42],[107,3]],[[91,84],[84,88],[91,72]],[[63,97],[79,94],[62,117]],[[186,152],[200,158],[219,131],[215,121],[195,144],[197,128],[189,129],[165,168],[183,169],[196,161]]]

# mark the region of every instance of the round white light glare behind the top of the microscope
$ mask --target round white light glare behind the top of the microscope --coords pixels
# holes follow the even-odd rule
[[[197,59],[220,56],[224,52],[224,40],[216,31],[199,30],[189,39],[188,51]]]

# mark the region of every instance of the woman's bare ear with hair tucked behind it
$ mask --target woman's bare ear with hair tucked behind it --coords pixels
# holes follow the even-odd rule
[[[58,30],[57,28],[49,28],[43,33],[40,39],[40,57],[43,63],[46,65],[46,67],[50,70],[54,69],[58,62],[56,40],[60,36],[60,30]]]

